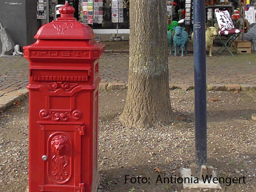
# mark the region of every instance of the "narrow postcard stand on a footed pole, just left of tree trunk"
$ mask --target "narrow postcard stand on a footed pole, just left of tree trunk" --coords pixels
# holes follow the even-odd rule
[[[111,0],[111,22],[116,23],[116,34],[112,34],[110,40],[123,40],[124,36],[118,34],[118,23],[123,23],[123,0]]]

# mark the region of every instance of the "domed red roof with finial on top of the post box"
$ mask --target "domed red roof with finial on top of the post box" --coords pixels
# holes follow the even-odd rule
[[[36,39],[93,39],[96,37],[92,28],[73,17],[75,8],[65,3],[59,8],[60,17],[42,26],[36,33]]]

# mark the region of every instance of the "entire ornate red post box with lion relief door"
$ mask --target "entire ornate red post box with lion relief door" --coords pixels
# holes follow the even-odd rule
[[[91,192],[98,186],[99,58],[75,9],[42,26],[24,47],[29,62],[29,191]]]

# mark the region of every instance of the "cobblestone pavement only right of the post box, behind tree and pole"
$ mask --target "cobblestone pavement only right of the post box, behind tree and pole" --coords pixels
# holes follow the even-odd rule
[[[194,56],[168,57],[172,84],[194,84]],[[208,57],[207,84],[256,84],[256,53]],[[100,62],[102,82],[128,82],[129,54],[105,54]]]

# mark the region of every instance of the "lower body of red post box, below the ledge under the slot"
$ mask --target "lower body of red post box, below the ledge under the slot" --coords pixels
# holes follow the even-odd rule
[[[29,102],[29,191],[96,192],[98,89],[67,96],[40,84]]]

